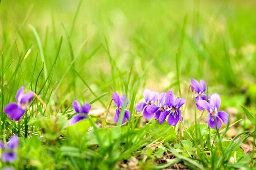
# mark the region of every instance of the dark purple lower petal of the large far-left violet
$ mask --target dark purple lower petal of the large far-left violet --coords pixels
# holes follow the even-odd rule
[[[25,113],[25,110],[20,109],[16,103],[7,104],[3,111],[15,121],[19,120]]]

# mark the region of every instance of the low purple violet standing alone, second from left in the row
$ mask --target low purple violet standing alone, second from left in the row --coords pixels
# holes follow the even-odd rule
[[[75,111],[78,113],[76,115],[73,115],[71,118],[70,124],[76,124],[78,121],[81,121],[83,119],[87,119],[87,114],[90,111],[91,105],[86,103],[82,107],[80,107],[80,104],[78,101],[73,101],[72,106],[74,107]]]

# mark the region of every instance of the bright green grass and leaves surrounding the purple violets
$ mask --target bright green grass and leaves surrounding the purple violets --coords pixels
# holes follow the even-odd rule
[[[146,170],[177,164],[253,169],[255,6],[239,0],[0,1],[0,140],[20,136],[18,160],[0,167],[112,170],[132,168],[135,157],[134,167]],[[204,79],[207,93],[220,94],[221,110],[235,110],[220,130],[207,127],[207,112],[201,116],[195,108],[190,78]],[[10,120],[3,109],[20,86],[34,91],[49,115],[35,98],[20,121]],[[175,127],[146,122],[135,110],[145,88],[187,98],[184,121]],[[113,92],[129,99],[131,119],[122,126],[113,121]],[[104,113],[69,126],[73,100]]]

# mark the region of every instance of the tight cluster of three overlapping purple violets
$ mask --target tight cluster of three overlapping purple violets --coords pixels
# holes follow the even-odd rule
[[[169,125],[175,126],[181,116],[180,107],[185,104],[185,98],[175,98],[172,91],[162,92],[158,95],[158,92],[151,92],[148,89],[144,90],[144,98],[146,103],[140,102],[136,105],[136,111],[143,111],[144,118],[159,119],[159,124],[163,124],[166,117],[169,115],[167,122]],[[159,104],[154,104],[155,101],[159,100]]]

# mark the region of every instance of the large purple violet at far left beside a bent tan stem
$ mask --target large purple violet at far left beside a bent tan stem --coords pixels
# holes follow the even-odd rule
[[[10,119],[17,121],[24,115],[33,98],[34,98],[34,93],[33,92],[24,93],[24,86],[22,86],[20,87],[20,89],[18,90],[15,96],[17,104],[9,103],[6,105],[3,111],[5,112],[6,115],[10,116]]]

